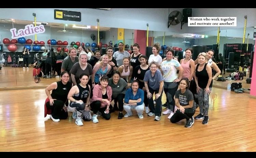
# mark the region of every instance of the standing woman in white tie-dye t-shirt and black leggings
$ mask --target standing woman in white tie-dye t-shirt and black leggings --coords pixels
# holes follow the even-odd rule
[[[163,114],[169,114],[170,119],[174,114],[174,95],[178,89],[178,82],[183,76],[183,67],[177,60],[173,59],[174,50],[172,48],[166,50],[166,60],[161,64],[161,73],[164,78],[164,93],[166,95],[167,110]],[[179,78],[177,77],[177,70],[179,70]]]

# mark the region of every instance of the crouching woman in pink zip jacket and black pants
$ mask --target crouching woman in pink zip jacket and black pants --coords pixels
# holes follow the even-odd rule
[[[110,119],[109,106],[111,102],[112,89],[108,85],[108,77],[103,76],[100,78],[99,84],[93,88],[93,97],[90,99],[90,106],[93,109],[92,121],[98,123],[97,111],[102,113],[102,117],[106,120]]]

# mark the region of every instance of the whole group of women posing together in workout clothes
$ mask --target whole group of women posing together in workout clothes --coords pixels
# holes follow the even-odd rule
[[[109,46],[102,57],[95,51],[95,55],[89,61],[87,53],[80,51],[79,62],[76,63],[74,62],[77,58],[77,50],[69,49],[70,56],[66,61],[64,59],[62,65],[61,80],[45,89],[48,96],[45,111],[47,113],[51,110],[50,118],[53,121],[65,119],[67,112],[73,112],[75,123],[81,126],[82,120],[92,120],[93,123],[97,123],[98,115],[109,120],[110,112],[114,110],[119,110],[118,119],[132,116],[131,109],[135,109],[138,117],[143,118],[144,107],[148,116],[154,115],[154,120],[160,121],[164,91],[167,110],[163,114],[170,114],[168,118],[172,123],[186,119],[185,127],[191,127],[197,104],[200,107],[200,114],[195,118],[203,119],[202,124],[208,123],[212,80],[220,74],[220,70],[211,60],[213,50],[200,53],[198,59],[193,61],[191,59],[193,50],[188,48],[185,50],[185,59],[178,62],[171,48],[166,50],[166,59],[162,61],[158,43],[153,45],[153,54],[149,59],[139,53],[138,44],[133,45],[133,53],[129,56],[131,58],[126,57],[122,42],[118,46],[119,51],[114,53],[113,48]],[[212,68],[217,72],[214,77],[212,77]],[[70,77],[72,83],[69,82]],[[52,94],[50,94],[51,90]],[[61,97],[58,96],[60,91],[62,91]],[[156,105],[153,100],[154,93]],[[69,104],[67,99],[70,100]],[[111,105],[112,100],[114,106]],[[93,116],[89,112],[89,106]],[[123,109],[126,111],[125,115]]]

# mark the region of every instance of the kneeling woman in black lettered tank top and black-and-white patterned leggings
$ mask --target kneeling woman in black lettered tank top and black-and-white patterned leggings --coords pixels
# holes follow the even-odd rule
[[[90,90],[91,87],[87,84],[89,81],[89,75],[81,74],[80,75],[80,83],[73,86],[68,93],[68,99],[70,103],[68,105],[68,111],[77,113],[76,124],[78,126],[82,126],[84,121],[91,121],[91,113],[88,108],[90,101]]]

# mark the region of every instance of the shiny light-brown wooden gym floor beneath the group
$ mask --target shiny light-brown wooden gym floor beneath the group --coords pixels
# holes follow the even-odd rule
[[[44,89],[0,91],[0,96],[0,152],[256,151],[256,99],[245,93],[213,88],[208,124],[195,120],[191,128],[184,127],[185,120],[170,123],[168,115],[154,121],[143,113],[139,119],[135,111],[121,120],[116,111],[110,120],[98,117],[99,123],[83,126],[75,124],[72,113],[53,122],[44,118]]]

